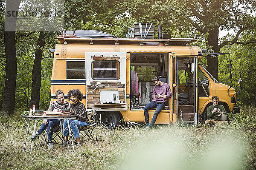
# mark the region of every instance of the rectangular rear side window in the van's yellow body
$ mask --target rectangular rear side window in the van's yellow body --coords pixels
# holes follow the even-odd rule
[[[85,60],[67,60],[67,79],[85,79]]]

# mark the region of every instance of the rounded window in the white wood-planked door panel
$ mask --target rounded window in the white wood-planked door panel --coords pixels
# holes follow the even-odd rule
[[[118,61],[93,61],[93,79],[119,79],[120,63]]]

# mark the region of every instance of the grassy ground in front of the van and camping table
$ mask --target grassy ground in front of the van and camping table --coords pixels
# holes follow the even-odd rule
[[[105,130],[98,142],[84,142],[75,152],[35,142],[23,151],[26,125],[15,116],[0,119],[0,169],[53,170],[249,170],[256,168],[256,109],[243,108],[228,125],[163,125],[145,131],[136,124]],[[30,141],[29,141],[30,142]],[[29,145],[27,145],[29,148]]]

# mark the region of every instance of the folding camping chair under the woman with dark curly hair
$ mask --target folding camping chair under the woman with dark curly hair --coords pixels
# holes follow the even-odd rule
[[[97,127],[97,122],[96,122],[97,119],[96,119],[96,116],[97,116],[97,113],[95,110],[87,112],[87,117],[90,118],[90,125],[78,127],[79,133],[84,132],[84,136],[80,137],[81,140],[83,140],[84,138],[87,137],[87,140],[91,140],[93,142],[97,141],[97,128],[96,128]],[[94,131],[95,131],[95,138],[94,138],[94,134],[93,134]],[[73,132],[72,132],[72,136],[73,136],[73,139],[75,139]]]

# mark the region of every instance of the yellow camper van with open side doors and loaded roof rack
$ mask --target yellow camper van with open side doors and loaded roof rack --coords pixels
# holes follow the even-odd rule
[[[235,90],[199,64],[202,51],[190,45],[194,39],[119,39],[91,30],[71,34],[59,36],[61,43],[52,51],[52,100],[57,89],[64,94],[80,89],[87,111],[96,110],[110,128],[120,120],[145,121],[143,108],[152,100],[155,75],[172,91],[155,124],[198,125],[215,95],[228,112],[233,111]],[[153,114],[154,109],[149,111],[150,121]]]

